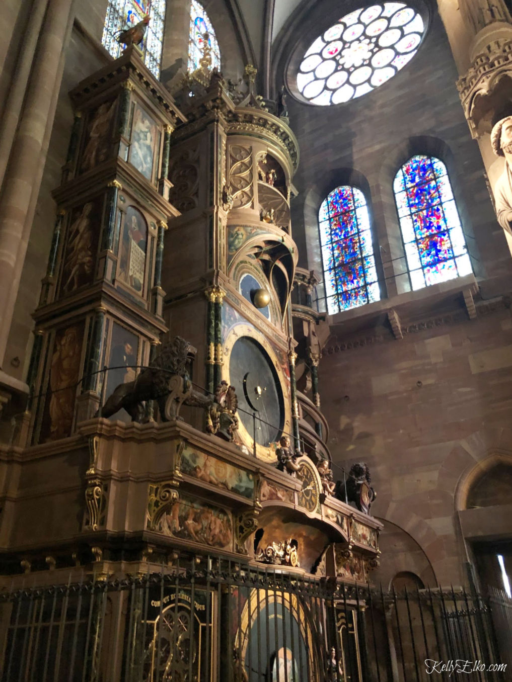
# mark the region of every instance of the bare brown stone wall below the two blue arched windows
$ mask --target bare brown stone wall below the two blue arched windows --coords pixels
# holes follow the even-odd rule
[[[457,520],[466,479],[491,456],[512,458],[511,311],[502,303],[477,311],[403,340],[384,330],[381,342],[345,351],[331,340],[319,367],[333,461],[347,470],[367,462],[378,492],[372,514],[410,535],[441,584],[466,580]],[[512,533],[510,517],[507,525]],[[396,559],[388,539],[384,567]],[[399,569],[429,582],[421,566],[412,557]]]

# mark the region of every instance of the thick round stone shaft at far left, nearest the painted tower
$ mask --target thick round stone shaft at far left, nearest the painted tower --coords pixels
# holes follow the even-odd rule
[[[40,189],[45,141],[46,137],[49,140],[55,115],[71,10],[72,0],[50,0],[48,3],[23,114],[3,179],[0,196],[0,366]]]

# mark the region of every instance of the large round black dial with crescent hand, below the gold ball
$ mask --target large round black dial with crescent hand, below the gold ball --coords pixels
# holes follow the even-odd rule
[[[257,341],[237,339],[229,357],[229,379],[236,389],[238,418],[253,436],[256,413],[256,443],[275,443],[284,424],[284,399],[277,372],[270,357]]]

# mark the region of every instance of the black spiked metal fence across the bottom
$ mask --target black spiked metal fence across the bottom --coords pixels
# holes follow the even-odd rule
[[[2,682],[448,681],[463,665],[471,682],[512,679],[502,593],[384,593],[193,557],[4,591],[0,613]]]

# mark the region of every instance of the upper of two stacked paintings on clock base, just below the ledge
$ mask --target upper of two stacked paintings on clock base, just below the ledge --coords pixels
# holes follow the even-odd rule
[[[249,500],[253,499],[253,475],[211,455],[188,449],[186,446],[182,454],[180,471],[213,486],[237,492]]]

